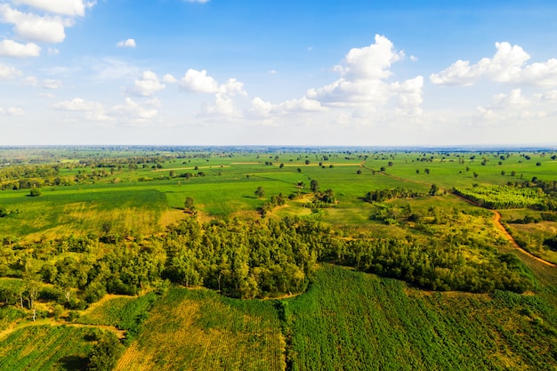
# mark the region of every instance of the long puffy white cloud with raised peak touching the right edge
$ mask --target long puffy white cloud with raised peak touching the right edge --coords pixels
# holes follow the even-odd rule
[[[456,60],[448,69],[432,74],[436,85],[473,85],[481,79],[499,83],[525,83],[530,85],[557,85],[557,60],[527,64],[529,53],[519,45],[496,43],[496,53],[475,64],[469,60]]]

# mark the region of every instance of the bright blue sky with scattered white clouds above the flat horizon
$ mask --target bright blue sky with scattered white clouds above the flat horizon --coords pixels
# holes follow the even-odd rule
[[[554,0],[0,0],[0,145],[557,145]]]

